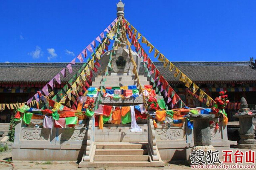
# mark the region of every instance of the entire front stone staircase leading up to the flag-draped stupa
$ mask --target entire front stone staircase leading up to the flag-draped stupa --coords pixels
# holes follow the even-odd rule
[[[163,161],[151,161],[148,153],[147,124],[138,124],[142,132],[131,132],[131,126],[104,124],[95,127],[95,153],[92,162],[79,163],[79,167],[161,167]],[[159,155],[159,154],[158,154]],[[159,156],[160,157],[160,156]]]

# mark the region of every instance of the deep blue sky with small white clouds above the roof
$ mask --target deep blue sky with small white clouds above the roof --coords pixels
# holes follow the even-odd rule
[[[117,2],[0,0],[0,62],[70,62],[116,18]],[[256,59],[256,0],[123,2],[125,18],[170,61]]]

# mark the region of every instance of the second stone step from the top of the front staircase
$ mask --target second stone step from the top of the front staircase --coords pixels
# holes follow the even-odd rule
[[[147,155],[147,149],[96,149],[95,155]]]

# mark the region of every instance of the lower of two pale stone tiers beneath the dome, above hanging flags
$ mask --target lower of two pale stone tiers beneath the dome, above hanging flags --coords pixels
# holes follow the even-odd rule
[[[149,85],[149,81],[140,81],[141,85]],[[103,85],[103,82],[96,82],[93,81],[92,86],[100,86]],[[130,85],[137,85],[137,81],[106,81],[105,86],[130,86]]]

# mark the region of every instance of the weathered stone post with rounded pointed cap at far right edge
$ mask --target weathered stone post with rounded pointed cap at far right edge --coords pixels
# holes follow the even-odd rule
[[[240,141],[237,144],[241,149],[256,149],[256,139],[253,132],[252,118],[256,116],[256,113],[250,112],[247,108],[248,104],[245,98],[241,98],[241,109],[239,112],[233,115],[235,118],[239,118],[239,135]]]

